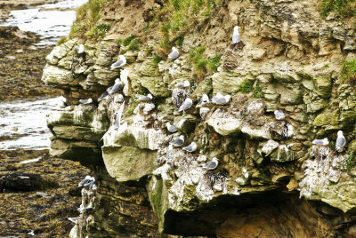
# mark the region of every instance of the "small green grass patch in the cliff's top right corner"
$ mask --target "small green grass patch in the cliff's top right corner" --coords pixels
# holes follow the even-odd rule
[[[321,16],[326,18],[328,13],[336,12],[342,19],[356,16],[356,0],[321,0]]]

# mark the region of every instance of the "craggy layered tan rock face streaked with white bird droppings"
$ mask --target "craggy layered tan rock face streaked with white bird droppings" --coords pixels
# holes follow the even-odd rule
[[[83,40],[71,39],[46,59],[44,83],[62,89],[70,105],[48,116],[52,153],[80,161],[98,178],[92,217],[77,225],[77,235],[356,235],[356,98],[340,76],[344,59],[355,57],[352,28],[321,19],[316,0],[223,1],[182,33],[178,59],[158,63],[157,25],[145,29],[147,36],[137,33],[139,50],[115,41],[130,32],[126,18],[134,13],[123,12],[136,7],[149,21],[169,4],[158,2],[152,9],[139,1],[104,4],[102,20],[120,15],[122,28],[87,41],[84,54],[75,50]],[[242,40],[231,45],[235,25]],[[134,32],[139,28],[141,21]],[[190,50],[199,44],[206,54],[223,55],[219,70],[204,75],[192,65]],[[119,54],[126,65],[110,69]],[[97,101],[120,75],[124,90]],[[185,80],[190,88],[176,89]],[[218,92],[231,94],[229,104],[198,104],[203,93],[211,98]],[[119,93],[125,96],[122,115]],[[148,93],[150,101],[137,100]],[[188,97],[193,106],[178,112]],[[93,103],[77,105],[88,98]],[[277,120],[276,109],[286,118]],[[167,122],[178,132],[169,133]],[[349,150],[312,146],[312,139],[335,141],[339,130],[353,140]],[[194,141],[198,149],[168,147],[181,135],[182,146]],[[204,170],[213,157],[217,168]]]

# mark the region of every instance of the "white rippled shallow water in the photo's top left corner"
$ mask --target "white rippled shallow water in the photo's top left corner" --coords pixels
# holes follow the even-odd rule
[[[68,36],[71,25],[76,20],[75,9],[87,0],[67,0],[57,4],[44,4],[25,10],[14,10],[11,17],[0,26],[17,26],[23,31],[32,31],[41,36],[37,45],[55,44],[61,36]],[[61,8],[66,11],[49,11]],[[43,9],[48,9],[42,11]]]

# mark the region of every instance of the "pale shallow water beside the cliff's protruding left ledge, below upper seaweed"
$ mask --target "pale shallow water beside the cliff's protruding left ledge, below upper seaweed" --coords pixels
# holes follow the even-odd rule
[[[63,97],[0,103],[0,148],[49,149],[51,132],[46,115],[59,107]]]

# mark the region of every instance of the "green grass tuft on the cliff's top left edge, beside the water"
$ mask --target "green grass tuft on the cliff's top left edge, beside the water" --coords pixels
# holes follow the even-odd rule
[[[77,19],[70,29],[69,38],[102,36],[106,27],[101,25],[106,24],[98,24],[98,20],[102,4],[109,1],[112,0],[89,0],[86,4],[78,7]]]

